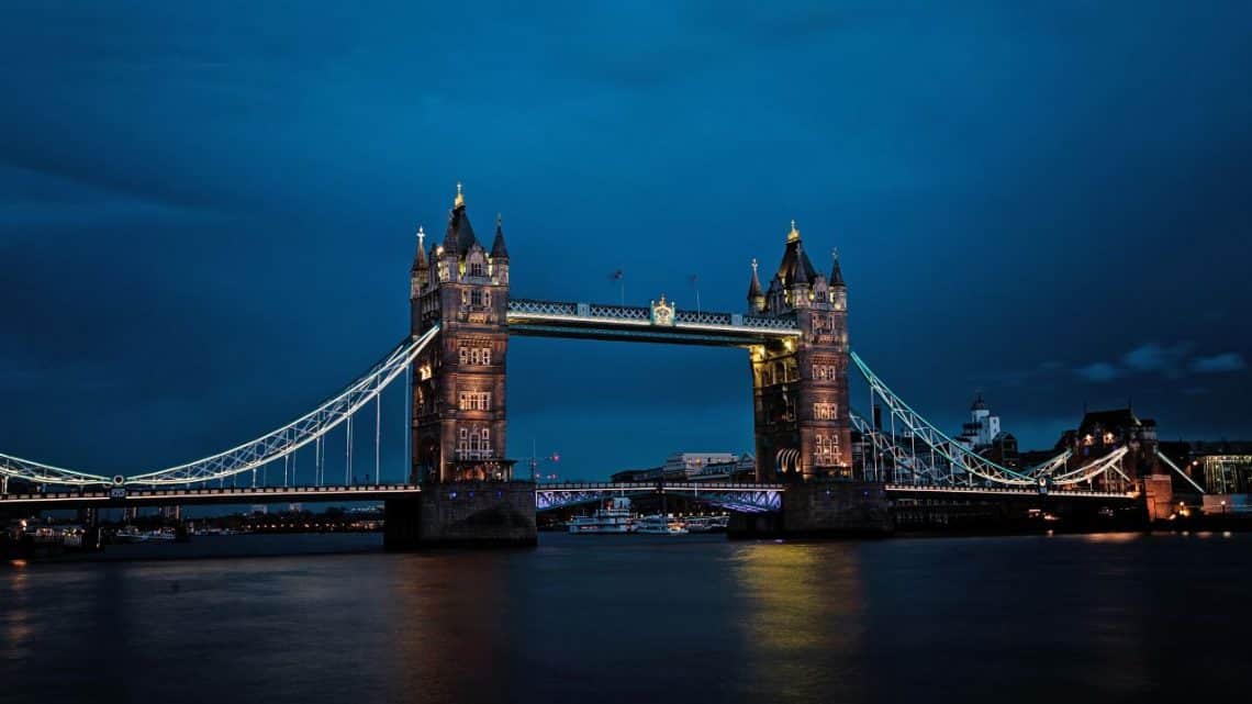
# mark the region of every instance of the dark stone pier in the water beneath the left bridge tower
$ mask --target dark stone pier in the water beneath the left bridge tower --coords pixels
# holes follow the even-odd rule
[[[536,542],[532,482],[432,482],[414,499],[386,504],[387,550],[528,547]]]

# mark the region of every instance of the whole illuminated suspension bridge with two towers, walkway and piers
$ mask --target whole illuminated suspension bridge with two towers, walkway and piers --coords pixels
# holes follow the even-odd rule
[[[893,496],[1022,497],[1161,502],[1168,482],[1138,471],[1156,462],[1154,441],[1074,452],[1029,468],[997,463],[914,411],[849,347],[848,287],[838,253],[814,266],[793,220],[779,267],[762,286],[751,262],[740,312],[511,296],[511,259],[496,218],[480,241],[461,185],[443,238],[417,233],[409,267],[408,336],[339,393],[297,420],[230,450],[126,476],[0,455],[0,507],[89,504],[200,504],[383,499],[388,544],[532,542],[535,511],[631,492],[674,491],[740,514],[781,516],[788,530],[890,530]],[[511,336],[737,347],[751,376],[756,481],[751,485],[533,485],[515,477],[507,447]],[[856,413],[849,371],[869,388],[873,417]],[[382,484],[381,395],[398,378],[406,393],[407,470]],[[885,411],[879,415],[876,410]],[[373,416],[373,474],[353,477],[361,443],[353,420]],[[343,481],[327,468],[331,431],[343,428]],[[368,442],[368,438],[367,441]],[[1133,445],[1133,446],[1132,446]],[[303,450],[303,452],[302,452]],[[298,458],[312,451],[312,467]],[[280,476],[282,482],[269,481]],[[303,474],[300,474],[303,472]],[[368,475],[368,472],[367,472]],[[259,482],[258,482],[259,476]],[[245,486],[238,486],[239,482]],[[229,486],[227,484],[229,482]],[[1169,499],[1164,497],[1166,504]]]

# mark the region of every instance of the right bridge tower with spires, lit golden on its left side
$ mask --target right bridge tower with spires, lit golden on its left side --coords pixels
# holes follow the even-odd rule
[[[757,481],[851,479],[848,408],[848,287],[834,253],[823,276],[791,220],[767,289],[757,263],[747,289],[751,316],[794,317],[801,333],[750,351]]]

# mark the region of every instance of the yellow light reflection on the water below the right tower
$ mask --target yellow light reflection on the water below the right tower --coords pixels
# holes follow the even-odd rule
[[[861,655],[866,628],[864,585],[853,547],[745,545],[735,557],[734,574],[745,606],[749,679],[761,696],[772,701],[864,699],[864,669],[851,666]]]

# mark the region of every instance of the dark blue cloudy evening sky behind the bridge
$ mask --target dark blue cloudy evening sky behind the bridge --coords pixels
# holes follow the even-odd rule
[[[458,179],[517,297],[737,311],[795,218],[945,427],[982,390],[1024,446],[1127,397],[1252,436],[1247,4],[4,5],[0,451],[129,472],[305,410],[406,333]],[[510,375],[566,476],[751,450],[739,351]]]

